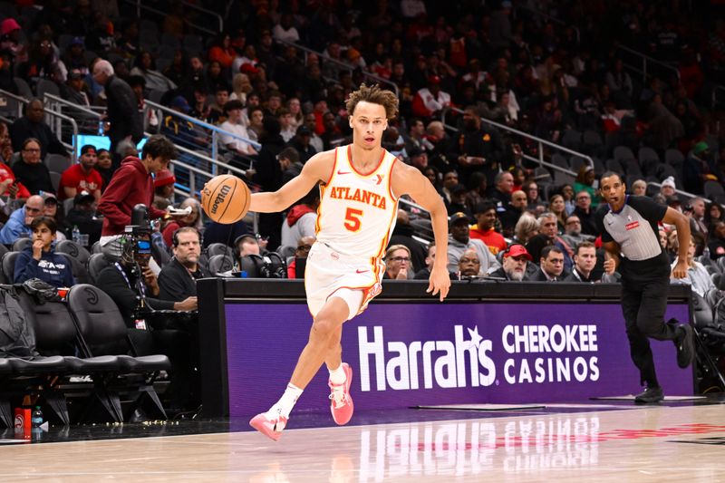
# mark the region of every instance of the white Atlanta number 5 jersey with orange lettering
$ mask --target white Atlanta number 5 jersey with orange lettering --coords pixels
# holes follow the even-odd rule
[[[391,191],[395,156],[382,150],[382,159],[369,174],[353,168],[352,146],[335,149],[333,174],[320,186],[315,231],[317,241],[349,256],[385,255],[398,214],[398,198]]]

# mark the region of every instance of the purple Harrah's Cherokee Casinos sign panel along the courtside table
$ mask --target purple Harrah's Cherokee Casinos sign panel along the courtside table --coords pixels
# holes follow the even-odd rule
[[[266,411],[307,341],[306,304],[227,304],[229,412]],[[667,317],[687,320],[686,304]],[[651,341],[664,391],[692,394],[672,342]],[[619,304],[372,304],[343,327],[355,406],[582,401],[640,391]],[[328,411],[327,371],[297,410]]]

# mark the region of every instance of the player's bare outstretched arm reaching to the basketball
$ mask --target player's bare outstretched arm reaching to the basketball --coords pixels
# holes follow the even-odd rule
[[[272,192],[253,193],[249,211],[276,213],[288,208],[309,193],[319,181],[329,181],[333,165],[334,150],[315,154],[304,164],[302,172],[282,188]]]

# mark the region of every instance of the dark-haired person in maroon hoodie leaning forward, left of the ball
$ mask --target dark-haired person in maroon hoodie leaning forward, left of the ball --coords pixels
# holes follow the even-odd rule
[[[121,235],[131,225],[131,212],[137,204],[146,205],[150,219],[164,217],[166,213],[151,206],[153,178],[161,169],[167,169],[169,160],[176,158],[171,141],[154,135],[143,145],[142,159],[128,157],[111,179],[98,206],[104,216],[101,237],[103,254],[111,260],[121,257]]]

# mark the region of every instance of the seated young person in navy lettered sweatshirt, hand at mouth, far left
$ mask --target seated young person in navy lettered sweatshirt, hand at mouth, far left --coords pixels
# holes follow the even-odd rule
[[[26,246],[15,260],[14,284],[22,284],[31,278],[56,287],[75,285],[68,258],[53,250],[57,226],[50,217],[35,217],[30,223],[33,245]]]

